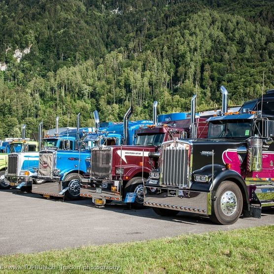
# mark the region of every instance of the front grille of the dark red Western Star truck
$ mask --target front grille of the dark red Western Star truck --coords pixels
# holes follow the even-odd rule
[[[111,149],[92,150],[91,176],[110,179],[111,173]]]

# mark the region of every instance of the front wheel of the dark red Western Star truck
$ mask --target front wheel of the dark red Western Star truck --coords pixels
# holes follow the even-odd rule
[[[146,180],[146,179],[144,179],[144,180]],[[143,192],[142,177],[135,177],[128,181],[128,183],[126,184],[125,190],[124,190],[125,197],[128,192],[136,193],[135,202],[132,203],[131,207],[133,207],[135,209],[141,209],[141,208],[146,207],[143,204],[144,203],[144,192]],[[130,206],[130,204],[127,203],[127,206]]]

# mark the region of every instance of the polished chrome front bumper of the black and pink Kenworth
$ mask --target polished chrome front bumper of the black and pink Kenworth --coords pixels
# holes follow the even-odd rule
[[[210,215],[210,198],[210,192],[145,186],[144,206]]]

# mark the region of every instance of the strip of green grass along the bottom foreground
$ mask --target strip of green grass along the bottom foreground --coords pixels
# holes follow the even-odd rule
[[[0,267],[4,268],[0,274],[11,272],[8,266],[26,264],[56,266],[50,273],[85,272],[60,270],[60,265],[118,266],[120,269],[112,273],[129,274],[274,273],[274,226],[0,256]]]

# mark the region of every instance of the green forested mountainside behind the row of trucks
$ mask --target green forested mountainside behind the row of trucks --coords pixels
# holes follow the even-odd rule
[[[274,88],[272,0],[0,1],[0,138],[37,131],[220,107]],[[30,47],[20,62],[14,51]]]

